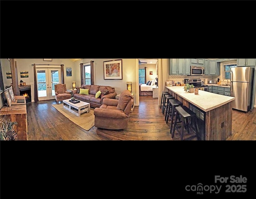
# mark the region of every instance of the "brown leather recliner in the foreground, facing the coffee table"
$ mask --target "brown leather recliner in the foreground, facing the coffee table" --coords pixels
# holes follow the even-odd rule
[[[94,125],[102,129],[126,129],[133,98],[128,90],[124,90],[119,99],[104,98],[102,105],[94,109]]]

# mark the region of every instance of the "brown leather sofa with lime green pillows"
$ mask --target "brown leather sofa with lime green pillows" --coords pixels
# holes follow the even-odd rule
[[[74,98],[90,103],[91,108],[100,107],[102,105],[102,100],[104,98],[115,99],[115,97],[116,97],[115,88],[113,88],[111,86],[98,86],[98,85],[84,85],[83,84],[80,88],[89,89],[89,95],[76,93],[76,94],[74,94]],[[77,92],[79,92],[80,88],[78,88]],[[108,90],[108,94],[106,94],[106,95],[101,94],[99,98],[95,98],[95,94],[99,90],[102,93],[103,93],[103,91]]]

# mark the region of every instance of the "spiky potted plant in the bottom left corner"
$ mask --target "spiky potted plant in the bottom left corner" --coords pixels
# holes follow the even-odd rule
[[[0,119],[0,140],[15,140],[18,133],[15,131],[16,121]]]

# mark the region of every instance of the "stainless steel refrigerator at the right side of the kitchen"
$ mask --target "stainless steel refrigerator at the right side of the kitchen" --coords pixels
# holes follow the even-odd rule
[[[230,96],[235,97],[232,107],[248,112],[252,106],[254,68],[235,67],[230,73]]]

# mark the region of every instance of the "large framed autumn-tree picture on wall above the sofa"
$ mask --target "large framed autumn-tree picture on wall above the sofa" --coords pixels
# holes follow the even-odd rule
[[[122,80],[122,60],[103,62],[104,80]]]

